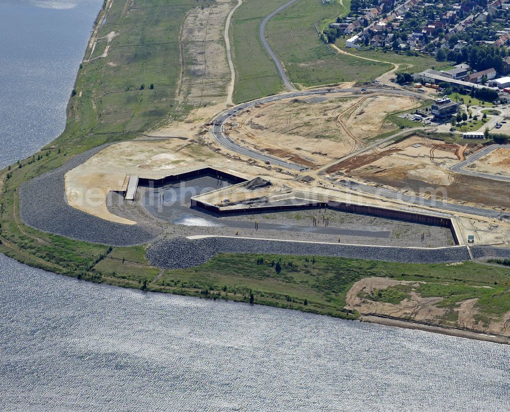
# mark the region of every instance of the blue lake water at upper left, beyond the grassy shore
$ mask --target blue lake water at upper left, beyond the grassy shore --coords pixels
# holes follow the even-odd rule
[[[64,129],[103,0],[0,0],[0,168]]]

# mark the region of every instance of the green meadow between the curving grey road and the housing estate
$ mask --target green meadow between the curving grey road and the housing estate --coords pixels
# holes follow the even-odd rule
[[[308,88],[342,81],[366,81],[391,69],[386,63],[331,52],[319,40],[314,23],[321,30],[337,16],[348,12],[350,2],[344,4],[322,5],[320,0],[298,0],[268,23],[269,43],[296,86]]]

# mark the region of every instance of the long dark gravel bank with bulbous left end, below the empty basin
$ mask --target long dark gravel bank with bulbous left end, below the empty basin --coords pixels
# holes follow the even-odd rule
[[[159,240],[147,250],[147,258],[157,267],[182,269],[206,263],[220,252],[337,256],[407,263],[453,263],[469,260],[465,247],[404,249],[222,237],[194,240],[177,237]]]

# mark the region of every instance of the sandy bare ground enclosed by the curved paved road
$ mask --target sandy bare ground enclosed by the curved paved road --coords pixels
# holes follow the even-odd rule
[[[247,146],[314,168],[394,130],[386,115],[417,105],[412,98],[384,95],[288,99],[241,113],[227,131]]]

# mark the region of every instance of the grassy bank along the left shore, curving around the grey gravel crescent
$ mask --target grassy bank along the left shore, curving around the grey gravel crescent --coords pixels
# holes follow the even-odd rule
[[[196,5],[207,2],[197,3]],[[17,188],[58,168],[93,147],[130,140],[162,122],[179,118],[187,107],[174,103],[180,71],[179,33],[185,13],[195,5],[178,0],[114,2],[98,37],[117,33],[108,57],[84,63],[67,107],[67,124],[54,142],[34,156],[0,172],[3,188],[0,252],[20,262],[70,276],[97,277],[91,271],[109,246],[48,235],[21,224]],[[103,20],[101,10],[97,21]],[[88,58],[90,50],[87,50]],[[154,89],[150,90],[150,84]],[[145,85],[141,90],[141,85]],[[72,225],[72,222],[69,222]]]

